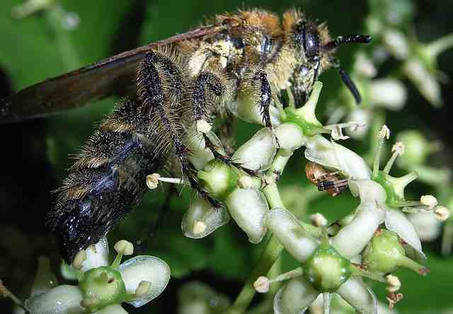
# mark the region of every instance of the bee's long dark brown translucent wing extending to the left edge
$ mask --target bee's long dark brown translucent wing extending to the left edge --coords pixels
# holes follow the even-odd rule
[[[137,64],[149,50],[181,40],[209,37],[230,27],[230,24],[222,23],[197,28],[36,83],[0,99],[0,124],[46,117],[54,112],[81,107],[91,100],[134,93]]]

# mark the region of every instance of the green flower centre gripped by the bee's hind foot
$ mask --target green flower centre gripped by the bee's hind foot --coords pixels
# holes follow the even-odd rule
[[[220,161],[212,160],[204,170],[198,171],[202,189],[212,194],[212,197],[223,201],[238,186],[239,175],[235,168]]]

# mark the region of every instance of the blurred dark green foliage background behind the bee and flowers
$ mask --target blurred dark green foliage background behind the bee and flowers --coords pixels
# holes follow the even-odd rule
[[[362,33],[369,14],[367,1],[62,0],[65,11],[76,13],[66,21],[67,26],[78,22],[69,31],[52,25],[45,12],[21,20],[11,18],[11,8],[21,2],[0,1],[0,97],[118,52],[183,33],[199,25],[205,17],[237,8],[260,7],[277,13],[301,8],[319,21],[327,21],[333,35]],[[414,22],[408,27],[415,29],[420,41],[430,42],[453,32],[452,0],[401,2],[408,4],[408,16],[413,16],[408,21]],[[339,59],[346,69],[351,67],[355,50],[354,45],[339,50]],[[390,58],[379,75],[397,71],[397,67],[398,62]],[[439,67],[453,78],[453,50],[440,56]],[[323,74],[321,81],[324,88],[319,116],[325,121],[325,104],[335,97],[341,83],[334,71]],[[442,85],[444,105],[440,108],[429,105],[411,83],[405,83],[408,102],[401,112],[387,115],[389,127],[395,133],[420,129],[429,138],[442,141],[442,163],[452,168],[452,83]],[[55,271],[58,269],[57,245],[45,226],[45,213],[53,202],[50,191],[57,189],[65,176],[64,169],[71,162],[68,154],[77,152],[93,132],[95,123],[114,103],[115,99],[111,98],[49,119],[0,125],[0,279],[19,296],[28,294],[39,255],[49,256]],[[247,139],[254,129],[239,124],[237,143]],[[348,145],[358,151],[368,148],[363,142]],[[299,154],[283,175],[282,185],[306,187],[309,183],[303,169],[304,161]],[[413,191],[426,194],[429,187],[418,184]],[[190,280],[210,284],[234,299],[262,249],[261,245],[250,245],[233,222],[202,240],[183,238],[180,219],[188,206],[190,191],[186,189],[182,193],[184,197],[173,194],[168,204],[164,193],[150,195],[109,234],[110,243],[115,243],[120,238],[137,240],[152,231],[142,252],[161,257],[171,265],[173,278],[168,288],[147,310],[140,308],[142,313],[176,313],[177,291]],[[167,205],[163,211],[164,203]],[[319,197],[300,210],[305,214],[319,211],[329,221],[335,221],[356,204],[357,199],[348,195],[336,199]],[[165,215],[159,218],[162,212]],[[398,272],[405,296],[398,303],[398,310],[444,313],[451,309],[453,313],[453,257],[440,255],[440,240],[425,243],[424,248],[431,272],[428,277],[418,277],[406,270]],[[290,257],[284,259],[286,267],[292,263]],[[384,298],[383,287],[377,285],[377,291]],[[132,308],[127,310],[132,313]],[[11,313],[10,301],[0,300],[0,313]]]

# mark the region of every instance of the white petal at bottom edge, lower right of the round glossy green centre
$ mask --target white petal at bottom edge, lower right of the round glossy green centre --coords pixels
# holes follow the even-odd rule
[[[377,299],[361,279],[351,278],[336,291],[361,314],[377,314]]]

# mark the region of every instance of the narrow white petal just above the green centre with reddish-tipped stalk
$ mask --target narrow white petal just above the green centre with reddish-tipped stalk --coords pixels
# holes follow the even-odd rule
[[[415,231],[415,227],[399,209],[386,208],[385,226],[390,231],[394,231],[408,245],[411,245],[422,260],[426,260],[426,255],[423,253],[422,243],[417,231]]]

